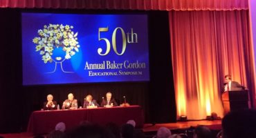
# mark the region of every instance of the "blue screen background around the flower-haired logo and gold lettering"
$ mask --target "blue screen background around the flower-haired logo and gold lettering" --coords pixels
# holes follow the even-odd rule
[[[111,81],[149,81],[149,54],[147,38],[147,15],[146,14],[50,14],[50,13],[22,13],[22,61],[23,61],[23,84],[54,84],[54,83],[94,83]],[[38,37],[37,31],[51,24],[63,24],[73,26],[73,32],[78,32],[77,41],[80,44],[79,52],[71,59],[60,63],[54,73],[55,62],[44,63],[42,55],[35,51],[37,44],[33,38]],[[106,50],[106,43],[98,40],[98,29],[109,28],[108,32],[100,32],[100,37],[109,39],[111,50],[108,55],[98,54],[98,48]],[[127,43],[123,55],[116,55],[112,47],[112,33],[115,28],[122,28],[125,33],[138,34],[138,43]],[[126,34],[127,37],[127,34]],[[116,45],[118,52],[122,50],[122,34],[116,33]],[[61,49],[55,49],[63,55]],[[52,57],[54,57],[53,55]],[[86,62],[102,63],[103,61],[124,61],[145,63],[145,68],[122,68],[84,70]],[[104,75],[89,76],[92,72],[142,72],[142,75]],[[71,73],[70,73],[71,72]]]

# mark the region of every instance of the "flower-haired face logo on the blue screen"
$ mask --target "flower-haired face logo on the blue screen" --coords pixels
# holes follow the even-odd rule
[[[35,51],[42,55],[44,63],[55,62],[55,69],[47,73],[55,72],[57,64],[60,64],[62,72],[67,72],[62,68],[62,62],[71,59],[75,52],[79,52],[78,32],[75,33],[72,29],[73,26],[50,23],[49,26],[45,25],[42,30],[37,31],[39,37],[33,39],[33,43],[37,44]]]

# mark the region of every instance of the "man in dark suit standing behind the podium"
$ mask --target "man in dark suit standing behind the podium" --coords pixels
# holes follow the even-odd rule
[[[245,87],[239,84],[237,81],[232,81],[231,75],[225,75],[225,83],[222,88],[222,92],[233,90],[234,88],[244,89]]]

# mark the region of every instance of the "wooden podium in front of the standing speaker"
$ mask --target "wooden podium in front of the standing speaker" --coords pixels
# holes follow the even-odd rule
[[[224,115],[230,111],[248,109],[248,90],[231,90],[221,95]]]

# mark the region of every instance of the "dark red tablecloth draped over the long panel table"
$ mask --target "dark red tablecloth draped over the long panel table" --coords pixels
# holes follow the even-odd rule
[[[81,121],[90,121],[104,125],[113,122],[118,126],[134,119],[136,127],[142,128],[144,124],[143,109],[140,106],[93,108],[77,110],[49,110],[35,111],[30,115],[28,132],[34,135],[45,134],[55,129],[59,122],[66,124],[66,130],[80,124]]]

